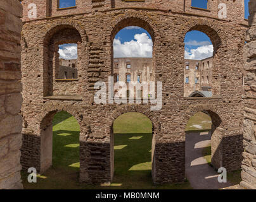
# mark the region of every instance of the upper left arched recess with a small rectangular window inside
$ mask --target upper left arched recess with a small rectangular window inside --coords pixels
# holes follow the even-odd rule
[[[58,25],[44,39],[44,96],[80,95],[80,33],[70,25]]]

